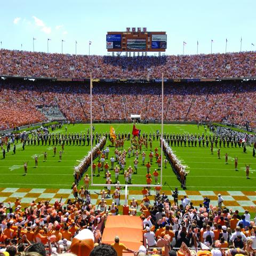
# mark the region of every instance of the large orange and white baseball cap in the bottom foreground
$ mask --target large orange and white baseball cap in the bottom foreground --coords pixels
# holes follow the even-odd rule
[[[70,251],[77,256],[87,256],[94,247],[94,236],[89,229],[81,230],[74,238],[70,246]]]

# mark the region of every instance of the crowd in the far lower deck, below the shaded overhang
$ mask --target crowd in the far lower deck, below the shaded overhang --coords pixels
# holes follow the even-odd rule
[[[161,119],[161,84],[93,83],[94,120]],[[45,121],[36,106],[58,106],[71,121],[90,119],[89,85],[74,82],[0,81],[0,129]],[[226,121],[256,127],[254,81],[173,83],[164,87],[164,120]]]

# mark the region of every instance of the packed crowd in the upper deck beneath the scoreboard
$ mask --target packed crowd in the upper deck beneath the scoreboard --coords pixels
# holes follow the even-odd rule
[[[167,78],[255,76],[255,52],[109,57],[0,50],[0,74],[44,77]]]

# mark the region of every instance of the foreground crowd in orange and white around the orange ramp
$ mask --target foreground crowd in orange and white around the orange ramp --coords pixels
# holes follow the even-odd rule
[[[83,188],[79,191],[81,198],[77,201],[68,199],[67,203],[63,203],[62,198],[53,204],[49,201],[33,201],[24,208],[19,198],[12,203],[1,202],[0,255],[14,256],[24,251],[39,253],[31,256],[65,252],[73,252],[78,256],[89,255],[91,250],[97,250],[95,247],[104,246],[101,237],[105,221],[109,215],[118,214],[118,208],[121,207],[116,203],[119,202],[118,197],[114,197],[121,188],[118,185],[116,188],[111,205],[107,205],[105,200],[108,193],[101,191],[102,199],[98,207],[91,204],[91,195]],[[74,196],[77,196],[77,190],[75,193]],[[179,196],[177,188],[173,191],[173,198],[161,190],[156,190],[155,198],[148,197],[146,188],[141,193],[144,196],[142,201],[132,198],[129,202],[130,215],[137,215],[138,211],[143,226],[143,246],[134,251],[135,256],[195,255],[195,251],[200,256],[255,255],[254,215],[247,210],[238,212],[223,207],[220,194],[218,207],[213,206],[207,197],[199,207],[194,207],[188,196]],[[79,238],[79,233],[85,229],[90,230],[86,231],[90,234],[92,232],[91,247],[86,242],[79,242],[85,239]],[[115,235],[112,246],[117,254],[100,255],[119,256],[122,250],[131,251],[119,243],[122,241]],[[81,250],[78,250],[77,243],[81,243]],[[179,248],[178,254],[172,250],[173,247]]]

